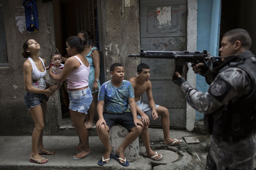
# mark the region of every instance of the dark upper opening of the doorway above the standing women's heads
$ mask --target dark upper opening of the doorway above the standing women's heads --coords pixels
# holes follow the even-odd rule
[[[97,0],[54,0],[52,6],[55,46],[63,55],[67,54],[67,38],[81,30],[92,32],[95,45],[99,48]]]

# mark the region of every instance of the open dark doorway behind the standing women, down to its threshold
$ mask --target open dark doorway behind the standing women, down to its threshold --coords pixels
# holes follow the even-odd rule
[[[53,0],[53,20],[55,33],[55,46],[62,56],[67,56],[66,40],[70,36],[76,36],[79,31],[86,30],[93,34],[93,42],[100,53],[100,82],[105,82],[105,63],[103,52],[103,34],[101,17],[101,0]],[[59,126],[73,129],[73,122],[69,115],[69,100],[67,94],[67,82],[60,88],[62,122]]]

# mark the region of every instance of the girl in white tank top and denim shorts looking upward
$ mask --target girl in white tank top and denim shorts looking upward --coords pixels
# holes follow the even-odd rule
[[[43,102],[45,95],[52,96],[53,92],[47,89],[45,84],[45,60],[39,57],[40,45],[33,39],[26,40],[23,44],[23,57],[27,58],[23,64],[24,84],[26,94],[24,102],[35,122],[32,133],[32,152],[30,162],[45,164],[40,154],[53,155],[53,151],[43,147],[43,128],[46,114],[46,103]],[[55,86],[57,90],[57,86]]]

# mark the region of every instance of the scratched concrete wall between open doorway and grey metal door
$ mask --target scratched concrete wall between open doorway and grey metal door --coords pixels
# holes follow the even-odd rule
[[[120,2],[120,0],[102,0],[106,81],[111,79],[111,64],[119,62],[124,65],[125,79],[128,80],[137,75],[137,65],[140,63],[140,59],[128,58],[128,54],[135,54],[140,51],[139,0],[131,0],[130,7],[124,8],[123,45],[124,18],[119,11]]]

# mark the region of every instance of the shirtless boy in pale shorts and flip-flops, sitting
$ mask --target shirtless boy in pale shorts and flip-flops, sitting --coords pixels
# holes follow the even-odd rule
[[[172,139],[169,134],[170,118],[169,111],[163,106],[156,105],[152,95],[152,85],[149,81],[150,69],[145,63],[141,63],[137,66],[138,77],[132,77],[129,79],[134,88],[134,99],[136,102],[138,119],[144,123],[144,128],[141,133],[141,138],[145,144],[146,152],[148,157],[153,160],[159,160],[162,155],[160,153],[154,152],[150,147],[148,125],[150,124],[150,119],[155,120],[158,115],[161,116],[161,124],[163,127],[163,143],[165,145],[178,145],[182,140]],[[143,103],[140,100],[140,96],[147,92],[148,103]]]

